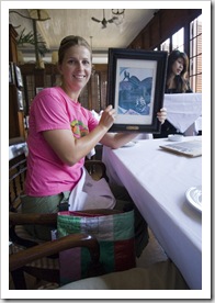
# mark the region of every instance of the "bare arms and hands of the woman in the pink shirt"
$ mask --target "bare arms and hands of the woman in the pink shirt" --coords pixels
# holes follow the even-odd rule
[[[161,109],[157,116],[163,123],[167,117],[166,109]],[[118,148],[138,135],[138,133],[108,133],[114,119],[115,110],[109,105],[103,111],[99,125],[83,137],[76,138],[70,130],[45,131],[43,136],[61,161],[72,166],[86,157],[99,142]]]

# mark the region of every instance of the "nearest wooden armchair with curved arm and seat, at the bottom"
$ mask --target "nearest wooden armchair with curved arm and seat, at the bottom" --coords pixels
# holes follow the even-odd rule
[[[88,247],[90,250],[93,266],[89,268],[89,276],[86,277],[86,279],[70,282],[60,288],[58,288],[57,284],[46,284],[42,285],[41,289],[189,290],[179,269],[170,259],[155,262],[145,268],[137,267],[105,274],[99,263],[98,242],[89,235],[69,235],[58,240],[41,244],[26,250],[19,251],[15,255],[10,255],[9,269],[16,281],[16,289],[25,289],[26,287],[23,270],[26,269],[29,262],[49,256],[50,254],[57,254],[64,249],[76,247],[76,245]],[[39,272],[42,273],[41,279],[44,279],[44,273],[42,271]]]

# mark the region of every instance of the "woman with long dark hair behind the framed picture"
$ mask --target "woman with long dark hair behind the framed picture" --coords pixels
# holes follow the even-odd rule
[[[188,79],[188,55],[178,49],[172,50],[168,57],[167,80],[165,93],[192,92]],[[161,133],[154,134],[154,138],[165,138],[170,134],[182,135],[168,120],[161,125]]]

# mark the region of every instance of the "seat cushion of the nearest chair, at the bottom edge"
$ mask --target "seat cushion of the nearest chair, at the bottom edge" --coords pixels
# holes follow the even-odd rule
[[[88,278],[68,283],[58,290],[186,290],[178,268],[169,259],[146,268]]]

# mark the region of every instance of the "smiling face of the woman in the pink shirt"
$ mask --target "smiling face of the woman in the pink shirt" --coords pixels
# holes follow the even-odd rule
[[[81,90],[90,79],[92,65],[90,50],[80,45],[71,46],[65,53],[59,66],[63,83],[75,91]]]

